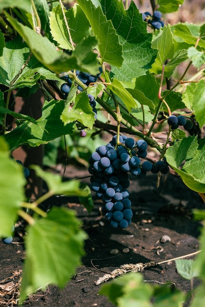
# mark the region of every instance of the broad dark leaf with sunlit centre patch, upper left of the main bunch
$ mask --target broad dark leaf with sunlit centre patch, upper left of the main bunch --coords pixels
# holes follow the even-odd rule
[[[24,123],[4,136],[10,150],[13,151],[21,145],[36,147],[61,135],[72,134],[74,123],[64,126],[60,120],[64,106],[64,100],[46,101],[43,106],[42,117],[36,120],[37,124]]]

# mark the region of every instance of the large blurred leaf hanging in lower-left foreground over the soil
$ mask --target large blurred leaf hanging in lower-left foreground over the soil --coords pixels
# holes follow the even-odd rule
[[[53,207],[46,218],[27,228],[20,304],[36,289],[48,284],[64,287],[72,278],[87,238],[79,226],[74,211]]]

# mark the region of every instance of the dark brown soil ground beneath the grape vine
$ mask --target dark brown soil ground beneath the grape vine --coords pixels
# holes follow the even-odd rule
[[[55,171],[61,173],[62,169],[58,165]],[[65,178],[88,175],[85,169],[68,166]],[[179,177],[171,174],[161,178],[159,188],[156,188],[157,176],[154,174],[141,179],[130,176],[129,179],[133,218],[125,230],[107,225],[101,215],[101,201],[95,198],[95,207],[90,215],[77,198],[54,197],[50,200],[51,205],[74,209],[82,220],[83,229],[89,235],[85,241],[86,256],[77,268],[76,275],[63,290],[51,285],[46,291],[31,295],[25,307],[112,307],[113,304],[106,297],[98,294],[101,285],[95,285],[95,281],[105,272],[111,272],[126,263],[160,262],[199,249],[201,224],[193,220],[191,209],[203,208],[200,196],[189,190]],[[89,178],[83,181],[89,183]],[[163,235],[168,235],[171,241],[161,243]],[[110,254],[113,249],[119,253]],[[17,228],[13,243],[5,245],[0,241],[0,306],[15,306],[24,258],[21,231]],[[172,281],[184,292],[190,290],[190,281],[179,276],[175,261],[145,269],[143,278],[157,284]],[[194,287],[199,283],[195,280]]]

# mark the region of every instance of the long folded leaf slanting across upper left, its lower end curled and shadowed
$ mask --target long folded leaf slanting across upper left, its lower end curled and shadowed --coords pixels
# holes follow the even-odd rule
[[[96,60],[97,54],[92,52],[94,46],[88,45],[92,56],[87,56],[87,52],[74,52],[72,55],[63,53],[56,48],[56,46],[50,42],[47,37],[43,37],[37,34],[34,30],[27,26],[23,26],[6,13],[6,17],[10,24],[16,29],[16,31],[22,36],[30,50],[44,66],[49,68],[55,73],[61,73],[69,71],[71,69],[79,69],[83,71],[89,71],[96,74],[98,72],[98,62]],[[88,43],[86,41],[86,43]],[[94,44],[95,40],[91,39],[91,43]],[[39,48],[41,46],[41,48]],[[85,45],[86,46],[86,45]],[[78,59],[78,56],[80,59]]]

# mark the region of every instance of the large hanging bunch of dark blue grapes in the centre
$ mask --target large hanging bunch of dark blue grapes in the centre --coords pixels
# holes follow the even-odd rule
[[[134,176],[146,175],[153,170],[153,164],[145,161],[141,165],[140,158],[147,156],[148,144],[145,140],[135,142],[133,138],[120,135],[122,145],[116,148],[116,142],[117,135],[92,153],[88,171],[92,175],[91,190],[103,201],[105,219],[112,227],[124,229],[131,223],[133,215],[128,172]]]

